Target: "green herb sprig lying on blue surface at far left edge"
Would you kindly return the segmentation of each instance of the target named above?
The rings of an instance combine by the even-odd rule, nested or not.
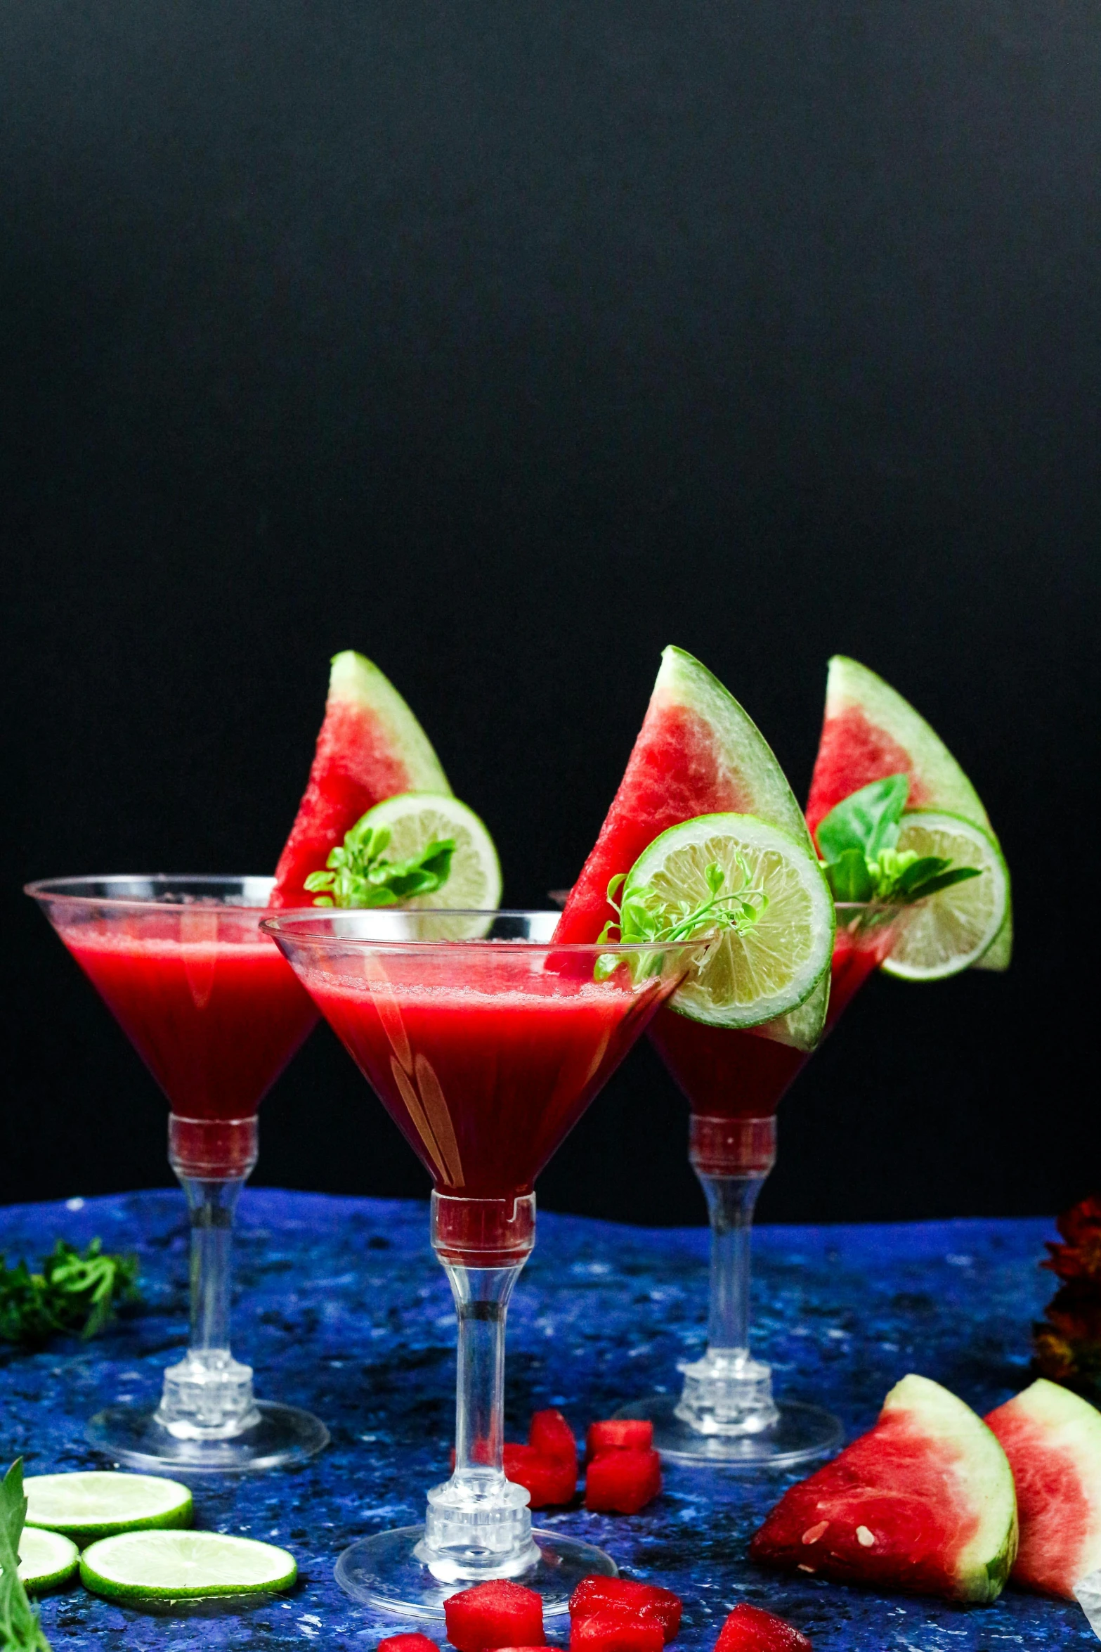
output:
[[[137,1297],[137,1257],[109,1256],[102,1239],[87,1251],[58,1239],[40,1274],[0,1256],[0,1338],[36,1348],[59,1332],[96,1336],[120,1302]]]

